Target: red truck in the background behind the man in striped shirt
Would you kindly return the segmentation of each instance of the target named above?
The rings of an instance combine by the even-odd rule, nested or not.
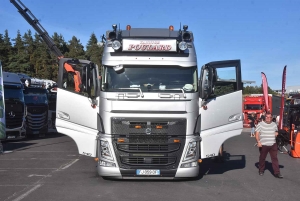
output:
[[[276,117],[280,113],[280,96],[275,96],[272,94],[268,94],[269,98],[269,107],[270,112],[273,115],[273,118]],[[261,114],[265,111],[265,101],[263,94],[251,94],[248,96],[244,96],[243,101],[243,114],[244,114],[244,128],[250,128],[249,117],[252,113],[255,114],[257,121],[260,119]],[[256,122],[257,123],[257,122]]]

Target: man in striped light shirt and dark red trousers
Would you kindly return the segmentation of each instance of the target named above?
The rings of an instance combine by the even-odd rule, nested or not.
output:
[[[275,138],[278,135],[278,128],[276,123],[272,121],[272,114],[267,113],[265,121],[260,122],[255,130],[255,138],[257,146],[259,147],[259,175],[263,176],[265,171],[265,160],[267,154],[270,153],[272,160],[272,167],[276,178],[283,178],[280,174],[278,158],[277,158],[277,144]]]

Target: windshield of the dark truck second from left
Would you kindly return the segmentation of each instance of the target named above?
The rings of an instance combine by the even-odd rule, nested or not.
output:
[[[26,104],[48,104],[47,91],[42,88],[26,88],[24,90]]]

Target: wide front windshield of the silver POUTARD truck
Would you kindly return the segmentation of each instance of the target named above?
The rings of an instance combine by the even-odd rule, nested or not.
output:
[[[168,89],[183,89],[185,93],[198,91],[196,66],[124,65],[119,71],[105,66],[103,72],[102,86],[105,86],[105,91],[123,91],[130,88],[140,88],[144,92]]]

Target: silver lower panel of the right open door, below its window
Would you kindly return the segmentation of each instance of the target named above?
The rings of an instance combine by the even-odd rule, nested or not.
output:
[[[200,109],[201,158],[217,156],[221,145],[243,129],[242,91],[217,97],[206,106]]]

